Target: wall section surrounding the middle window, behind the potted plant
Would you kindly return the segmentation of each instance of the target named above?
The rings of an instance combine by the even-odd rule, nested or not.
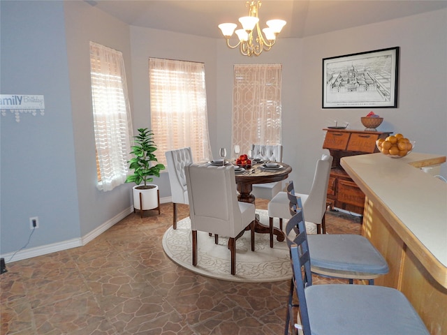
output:
[[[210,142],[212,147],[216,146],[216,135],[219,133],[217,124],[219,123],[216,110],[218,94],[216,90],[217,62],[214,43],[215,40],[212,38],[131,27],[133,128],[150,128],[149,57],[198,61],[205,64]],[[157,156],[164,156],[164,154],[162,151],[156,151]],[[159,185],[161,198],[170,197],[167,170],[161,172],[160,178],[154,179],[154,184]]]

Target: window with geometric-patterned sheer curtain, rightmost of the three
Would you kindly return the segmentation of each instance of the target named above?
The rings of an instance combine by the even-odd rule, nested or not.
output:
[[[232,147],[281,144],[280,64],[234,66]]]

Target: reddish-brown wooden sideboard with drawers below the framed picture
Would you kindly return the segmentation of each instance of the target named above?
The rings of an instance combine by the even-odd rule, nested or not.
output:
[[[331,207],[363,214],[365,194],[344,171],[340,159],[378,152],[376,140],[386,138],[390,133],[329,128],[323,131],[326,131],[323,149],[329,149],[330,155],[334,158],[328,186],[328,200],[332,202]]]

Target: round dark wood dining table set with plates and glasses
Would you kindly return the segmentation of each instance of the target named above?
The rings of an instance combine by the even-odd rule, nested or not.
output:
[[[288,174],[292,172],[291,166],[282,162],[277,164],[277,168],[268,169],[263,162],[260,162],[251,165],[250,168],[246,168],[243,172],[235,173],[236,187],[239,192],[238,200],[254,203],[255,196],[251,193],[254,184],[272,183],[286,179]],[[255,220],[255,232],[270,234],[270,228],[268,225],[263,225],[259,222],[258,216],[256,216]],[[284,241],[284,232],[278,228],[273,228],[273,234],[277,236],[277,241]]]

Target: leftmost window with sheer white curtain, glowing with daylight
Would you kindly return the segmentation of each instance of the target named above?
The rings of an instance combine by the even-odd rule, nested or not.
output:
[[[122,52],[90,42],[91,98],[98,189],[124,184],[131,152],[131,110]]]

